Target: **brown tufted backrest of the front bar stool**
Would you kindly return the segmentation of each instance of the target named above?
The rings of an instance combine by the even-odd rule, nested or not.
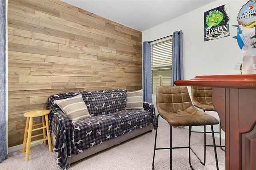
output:
[[[192,106],[187,87],[184,86],[157,86],[156,106],[164,111],[173,113],[184,111]]]

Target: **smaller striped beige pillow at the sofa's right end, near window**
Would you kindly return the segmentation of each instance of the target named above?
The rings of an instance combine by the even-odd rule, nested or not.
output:
[[[125,109],[144,110],[142,103],[143,89],[138,91],[126,92],[126,107]]]

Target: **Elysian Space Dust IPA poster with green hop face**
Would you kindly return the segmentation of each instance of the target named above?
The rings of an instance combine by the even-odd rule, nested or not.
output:
[[[204,41],[230,36],[229,4],[204,12]]]

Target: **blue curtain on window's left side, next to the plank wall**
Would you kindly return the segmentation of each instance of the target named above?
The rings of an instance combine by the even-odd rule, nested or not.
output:
[[[150,43],[143,42],[143,101],[152,103]]]

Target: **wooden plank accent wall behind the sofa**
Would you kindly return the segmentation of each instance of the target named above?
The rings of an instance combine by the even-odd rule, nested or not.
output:
[[[67,91],[142,88],[142,33],[60,0],[8,0],[8,137]],[[40,119],[36,119],[40,121]]]

